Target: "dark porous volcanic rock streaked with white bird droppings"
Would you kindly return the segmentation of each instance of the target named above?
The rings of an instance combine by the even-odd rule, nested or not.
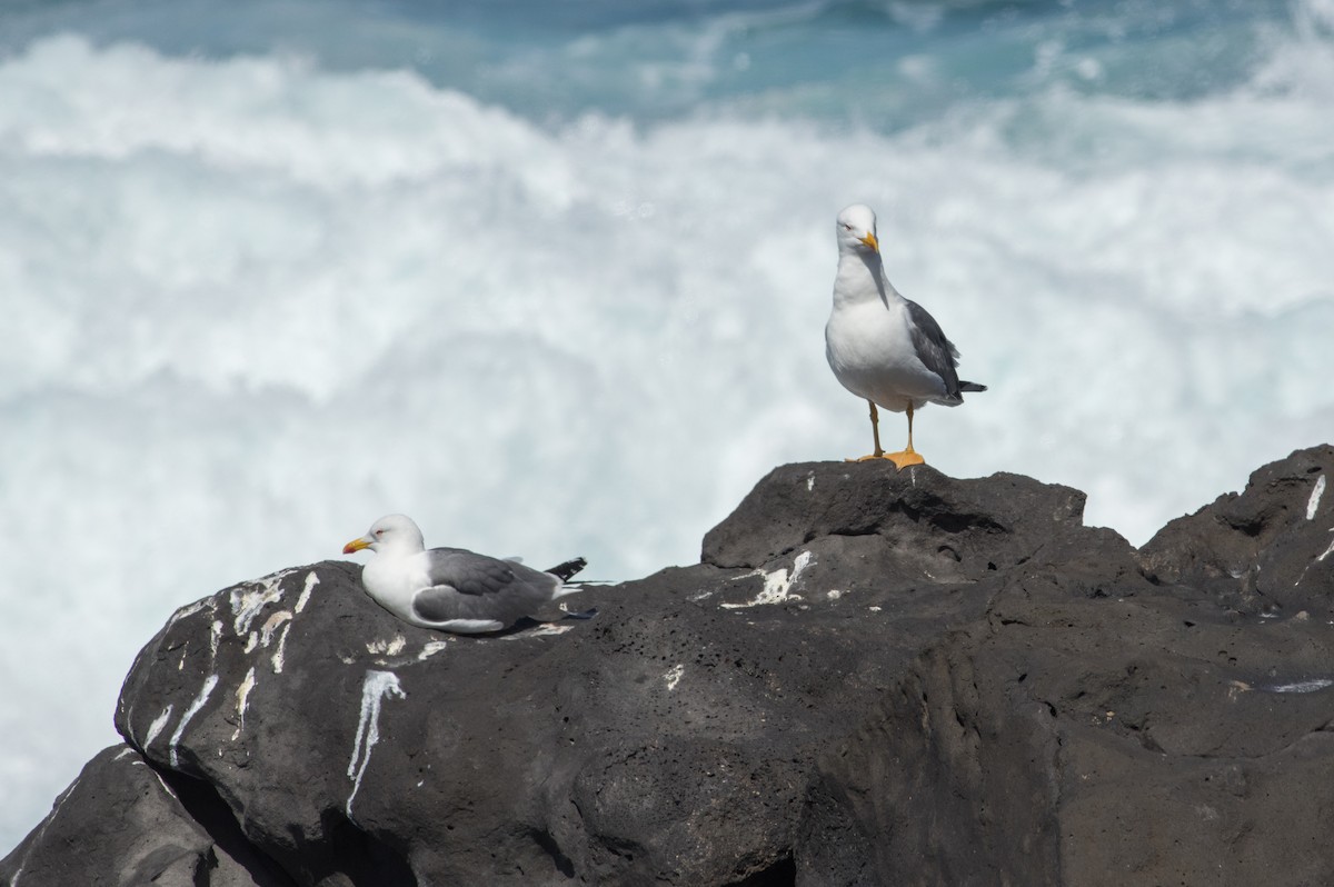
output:
[[[1330,475],[1137,551],[1030,478],[784,466],[702,563],[498,636],[346,562],[244,583],[144,647],[0,879],[1334,883]]]

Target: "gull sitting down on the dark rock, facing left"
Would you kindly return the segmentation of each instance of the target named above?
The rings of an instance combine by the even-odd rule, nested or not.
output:
[[[579,591],[566,580],[584,567],[583,558],[539,571],[464,548],[427,550],[407,515],[380,518],[370,532],[347,543],[343,554],[363,548],[375,552],[362,571],[362,584],[375,603],[403,622],[460,635],[499,631]]]

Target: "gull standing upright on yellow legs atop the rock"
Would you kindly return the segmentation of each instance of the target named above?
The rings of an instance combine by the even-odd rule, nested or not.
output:
[[[888,459],[902,471],[924,460],[912,450],[912,411],[928,403],[958,407],[964,391],[986,391],[959,381],[958,349],[940,324],[915,301],[904,299],[884,279],[875,213],[854,204],[838,213],[838,275],[834,309],[824,325],[824,356],[843,387],[871,405],[875,452],[855,462]],[[879,404],[908,413],[908,446],[880,450]]]

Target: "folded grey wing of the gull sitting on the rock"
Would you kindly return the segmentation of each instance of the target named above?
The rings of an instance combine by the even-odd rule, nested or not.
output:
[[[412,610],[427,622],[491,619],[510,624],[551,600],[560,587],[555,576],[463,548],[426,554],[431,587],[414,596]]]

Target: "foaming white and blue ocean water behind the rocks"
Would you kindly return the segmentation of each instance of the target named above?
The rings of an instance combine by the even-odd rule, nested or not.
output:
[[[991,385],[918,448],[1145,542],[1331,437],[1331,0],[9,0],[0,851],[176,606],[388,511],[636,578],[864,452],[852,201]]]

